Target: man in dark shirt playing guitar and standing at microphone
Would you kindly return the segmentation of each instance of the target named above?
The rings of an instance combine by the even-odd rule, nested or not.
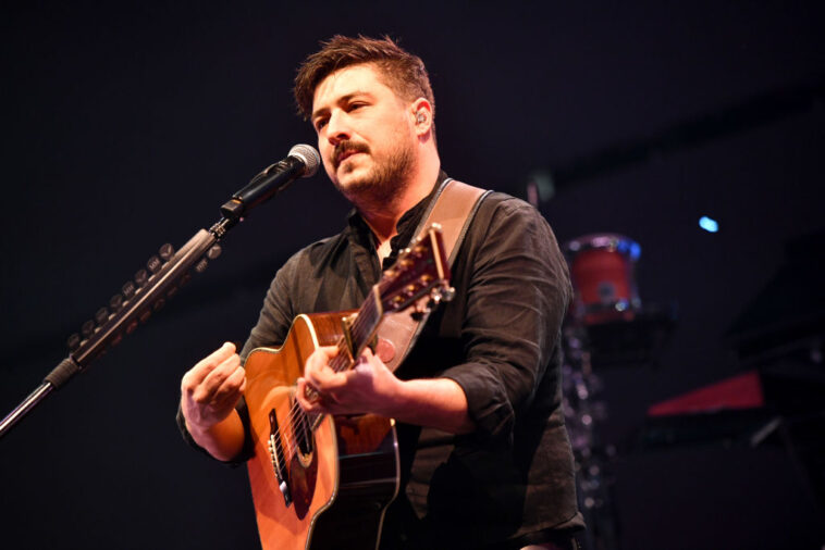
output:
[[[300,313],[358,307],[446,179],[427,71],[389,38],[333,37],[301,65],[295,97],[355,211],[344,232],[279,271],[243,357],[280,345]],[[328,364],[335,348],[321,348],[297,399],[311,412],[396,420],[403,485],[382,548],[572,548],[583,523],[558,349],[570,285],[546,222],[520,200],[488,196],[452,284],[456,298],[430,316],[396,372],[368,350],[336,373]],[[250,442],[234,351],[224,345],[184,375],[178,421],[192,442],[237,463]]]

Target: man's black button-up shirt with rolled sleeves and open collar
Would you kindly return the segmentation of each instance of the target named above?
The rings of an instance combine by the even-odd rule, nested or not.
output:
[[[402,217],[383,266],[357,212],[341,234],[292,257],[242,357],[280,345],[298,314],[358,308],[414,237],[432,196]],[[455,298],[430,315],[396,375],[458,383],[477,432],[397,424],[403,485],[382,548],[520,548],[544,540],[542,533],[581,528],[561,393],[561,325],[571,289],[553,232],[528,203],[491,193],[452,275]]]

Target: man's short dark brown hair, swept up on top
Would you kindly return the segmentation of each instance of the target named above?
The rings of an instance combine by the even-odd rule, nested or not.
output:
[[[412,101],[423,97],[432,104],[435,117],[435,99],[430,87],[423,61],[402,49],[392,38],[358,38],[335,35],[321,42],[321,49],[309,55],[298,67],[295,77],[295,101],[304,118],[312,114],[312,98],[316,87],[340,68],[361,63],[371,63],[383,76],[383,84],[395,93]]]

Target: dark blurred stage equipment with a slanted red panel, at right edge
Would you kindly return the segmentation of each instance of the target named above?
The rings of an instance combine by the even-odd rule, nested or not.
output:
[[[629,447],[780,447],[825,524],[825,232],[785,260],[725,334],[742,373],[651,405]]]

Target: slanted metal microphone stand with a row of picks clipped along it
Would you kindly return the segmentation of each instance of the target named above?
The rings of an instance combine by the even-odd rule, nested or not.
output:
[[[49,393],[63,387],[75,374],[102,355],[107,349],[120,343],[125,335],[132,334],[137,328],[138,324],[146,323],[153,311],[160,310],[167,300],[177,293],[180,288],[192,278],[193,267],[198,273],[204,272],[208,260],[214,260],[221,253],[218,241],[243,220],[242,216],[248,210],[286,188],[294,177],[300,175],[306,177],[315,173],[315,171],[304,173],[300,166],[293,168],[288,179],[274,180],[273,177],[269,177],[267,179],[271,180],[261,183],[263,176],[271,176],[271,174],[279,176],[273,171],[279,167],[279,164],[273,164],[261,172],[244,190],[226,201],[221,207],[223,218],[209,230],[198,230],[177,252],[173,253],[171,245],[161,247],[160,258],[149,259],[148,272],[140,270],[135,275],[134,284],[126,283],[122,289],[123,293],[115,295],[110,300],[109,308],[101,308],[97,312],[95,322],[88,321],[83,325],[82,335],[70,337],[69,357],[63,359],[44,378],[42,384],[0,422],[0,438]],[[245,191],[248,195],[250,188],[255,190],[255,201],[244,201],[245,197],[242,195]],[[262,199],[261,196],[263,196]]]

